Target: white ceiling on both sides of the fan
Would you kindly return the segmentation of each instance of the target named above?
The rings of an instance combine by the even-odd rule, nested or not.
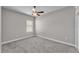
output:
[[[42,10],[45,13],[51,12],[51,11],[55,11],[61,8],[64,8],[67,6],[37,6],[38,10]],[[4,8],[8,8],[14,11],[18,11],[18,12],[22,12],[28,15],[32,15],[32,8],[33,6],[4,6]],[[44,14],[45,14],[44,13]]]

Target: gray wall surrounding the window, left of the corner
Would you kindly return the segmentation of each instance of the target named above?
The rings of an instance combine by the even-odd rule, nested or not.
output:
[[[33,35],[33,33],[26,33],[26,20],[34,20],[32,16],[5,8],[2,9],[2,16],[2,41]]]

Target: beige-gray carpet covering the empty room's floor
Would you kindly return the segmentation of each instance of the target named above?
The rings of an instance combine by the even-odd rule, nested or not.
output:
[[[40,37],[32,37],[2,46],[3,53],[76,53],[76,48]]]

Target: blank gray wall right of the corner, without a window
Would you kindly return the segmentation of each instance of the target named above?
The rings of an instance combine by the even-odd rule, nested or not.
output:
[[[75,9],[66,7],[36,18],[37,34],[75,44]]]

